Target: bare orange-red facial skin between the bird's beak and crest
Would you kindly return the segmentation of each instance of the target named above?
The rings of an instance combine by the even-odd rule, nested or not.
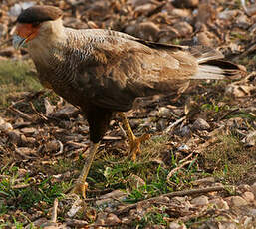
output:
[[[40,25],[34,26],[29,23],[18,23],[16,25],[16,34],[26,39],[26,42],[33,40],[38,32]]]

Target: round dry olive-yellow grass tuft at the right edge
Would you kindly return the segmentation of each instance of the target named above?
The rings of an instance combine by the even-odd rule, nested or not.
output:
[[[222,135],[203,157],[206,169],[210,168],[214,176],[223,182],[237,184],[250,180],[248,174],[253,174],[256,153],[244,147],[236,136]]]

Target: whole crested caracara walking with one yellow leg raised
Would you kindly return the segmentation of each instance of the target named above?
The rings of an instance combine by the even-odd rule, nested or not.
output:
[[[112,114],[121,113],[135,159],[140,141],[125,114],[138,97],[177,94],[191,79],[232,78],[233,64],[212,49],[157,44],[128,34],[76,30],[63,26],[62,11],[33,6],[17,18],[13,45],[27,44],[40,82],[85,114],[90,126],[90,152],[73,189],[85,197],[86,178]]]

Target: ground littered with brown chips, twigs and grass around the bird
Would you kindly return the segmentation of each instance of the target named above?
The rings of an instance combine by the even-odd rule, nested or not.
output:
[[[6,94],[0,85],[0,228],[256,228],[256,3],[0,0],[1,62],[31,62],[10,39],[22,8],[46,3],[64,10],[66,26],[210,46],[248,73],[192,83],[176,98],[141,99],[128,119],[152,138],[137,163],[114,118],[86,200],[55,194],[78,176],[89,146],[79,109],[49,91]],[[36,76],[33,66],[29,74]]]

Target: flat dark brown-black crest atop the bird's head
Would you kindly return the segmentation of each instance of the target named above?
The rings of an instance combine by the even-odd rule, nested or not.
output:
[[[32,6],[22,11],[17,22],[19,23],[41,23],[53,21],[62,16],[62,10],[54,6]]]

